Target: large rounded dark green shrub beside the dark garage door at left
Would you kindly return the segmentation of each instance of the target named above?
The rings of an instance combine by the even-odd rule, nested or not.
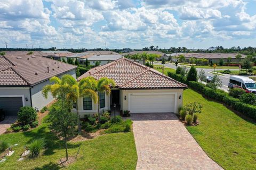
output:
[[[36,111],[32,107],[24,106],[21,107],[19,112],[18,112],[18,121],[23,124],[30,124],[34,121],[36,121],[37,115]]]

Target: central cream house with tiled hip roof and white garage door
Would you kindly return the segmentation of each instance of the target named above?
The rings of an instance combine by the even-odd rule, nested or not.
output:
[[[131,113],[178,113],[178,108],[182,106],[183,89],[187,88],[186,84],[127,58],[94,67],[81,75],[78,81],[89,76],[97,80],[107,77],[116,83],[110,95],[100,94],[101,112],[110,110],[115,103],[117,108]],[[81,116],[97,113],[97,109],[98,104],[94,104],[90,97],[78,99]]]

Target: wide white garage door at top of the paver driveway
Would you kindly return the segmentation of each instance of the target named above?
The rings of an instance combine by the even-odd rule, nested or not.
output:
[[[166,113],[174,112],[175,95],[173,94],[131,94],[131,113]]]

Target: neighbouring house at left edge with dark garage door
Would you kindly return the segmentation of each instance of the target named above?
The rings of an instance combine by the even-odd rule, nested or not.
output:
[[[14,53],[13,53],[14,54]],[[76,78],[74,65],[36,55],[0,56],[0,108],[6,115],[17,115],[22,106],[41,109],[53,97],[45,99],[42,88],[53,76],[70,74]]]

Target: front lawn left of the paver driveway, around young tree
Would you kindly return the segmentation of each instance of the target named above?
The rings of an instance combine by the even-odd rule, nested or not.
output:
[[[17,162],[23,146],[33,139],[42,137],[47,142],[44,155]],[[19,143],[17,147],[13,147],[14,154],[7,157],[6,162],[0,163],[0,169],[59,169],[57,162],[59,158],[65,157],[63,142],[50,132],[46,123],[33,131],[2,134],[0,140],[7,141],[11,145]],[[83,142],[69,142],[69,156],[76,155],[79,145],[81,150],[76,162],[65,169],[135,169],[136,167],[137,152],[132,132],[101,135]]]

